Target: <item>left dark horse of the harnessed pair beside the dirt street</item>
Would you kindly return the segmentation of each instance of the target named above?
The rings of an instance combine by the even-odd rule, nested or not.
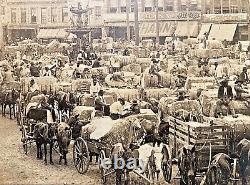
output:
[[[42,145],[44,146],[44,162],[47,164],[47,144],[50,145],[50,164],[53,163],[53,146],[55,138],[56,126],[39,122],[34,126],[34,139],[37,147],[37,159],[43,159]]]

